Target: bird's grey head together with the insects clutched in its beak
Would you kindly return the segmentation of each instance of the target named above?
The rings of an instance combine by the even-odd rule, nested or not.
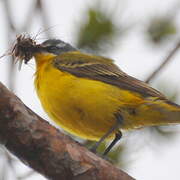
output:
[[[35,57],[37,62],[41,62],[68,51],[77,51],[77,49],[59,39],[49,39],[41,44],[37,44],[30,37],[20,35],[17,37],[12,54],[18,59],[20,64],[23,61],[27,64],[32,57]]]

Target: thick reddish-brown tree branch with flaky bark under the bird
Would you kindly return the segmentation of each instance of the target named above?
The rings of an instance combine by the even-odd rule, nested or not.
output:
[[[49,179],[133,180],[59,132],[1,83],[0,143]]]

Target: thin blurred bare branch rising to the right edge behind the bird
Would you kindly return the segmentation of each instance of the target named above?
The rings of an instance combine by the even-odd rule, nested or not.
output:
[[[145,80],[146,83],[149,83],[154,79],[157,74],[169,63],[172,57],[177,53],[180,48],[180,41],[175,45],[175,47],[170,51],[164,61],[149,75],[149,77]]]

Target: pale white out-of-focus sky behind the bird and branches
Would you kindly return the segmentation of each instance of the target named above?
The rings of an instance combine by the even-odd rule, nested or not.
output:
[[[51,20],[51,32],[55,34],[56,38],[60,38],[66,42],[73,44],[75,42],[74,36],[76,35],[75,29],[79,22],[79,18],[82,18],[83,12],[86,10],[87,6],[94,4],[94,0],[44,0],[46,4],[46,10],[49,12],[49,19]],[[22,3],[23,2],[23,3]],[[26,3],[24,3],[26,2]],[[14,12],[14,20],[17,24],[23,23],[26,17],[25,14],[29,9],[32,0],[11,0],[12,11]],[[152,70],[161,63],[161,60],[168,51],[173,47],[169,44],[166,47],[157,48],[149,47],[146,43],[145,37],[141,36],[143,33],[143,23],[146,24],[147,20],[154,15],[168,13],[177,0],[101,0],[107,11],[114,8],[115,3],[121,6],[125,6],[125,11],[123,15],[123,22],[128,23],[136,22],[142,23],[141,26],[137,26],[131,31],[128,38],[120,39],[117,43],[115,50],[112,50],[112,54],[108,56],[116,60],[116,63],[120,68],[126,73],[139,78],[141,80],[145,79]],[[173,3],[174,2],[174,3]],[[117,10],[115,13],[116,21],[119,21],[119,13],[121,11]],[[119,8],[120,9],[120,8]],[[9,48],[7,42],[5,42],[6,29],[4,29],[3,19],[3,8],[0,2],[0,54],[3,54],[5,50]],[[32,14],[33,16],[33,14]],[[53,20],[53,21],[52,21]],[[177,17],[177,22],[180,17]],[[29,30],[32,34],[36,34],[38,30],[42,27],[39,23],[39,18],[34,20],[33,27]],[[15,38],[15,37],[14,37]],[[103,54],[102,54],[103,55]],[[7,85],[7,59],[3,58],[0,61],[0,81]],[[32,64],[32,63],[31,63]],[[32,65],[31,65],[32,66]],[[33,67],[33,66],[32,66]],[[33,73],[35,66],[33,68],[29,66],[23,66],[21,71],[17,72],[16,90],[15,93],[21,100],[36,113],[42,117],[49,119],[41,108],[39,100],[36,96],[35,89],[33,86]],[[172,88],[179,88],[180,86],[180,52],[177,53],[176,57],[172,62],[163,70],[163,72],[158,76],[158,80],[170,81]],[[179,91],[180,93],[180,91]],[[180,128],[179,128],[180,132]],[[146,134],[142,133],[142,136]],[[168,144],[156,145],[155,148],[151,147],[151,138],[147,137],[147,146],[143,147],[141,151],[134,149],[133,144],[138,141],[136,138],[139,136],[131,137],[125,135],[125,140],[131,142],[132,152],[130,155],[133,156],[129,169],[125,171],[132,177],[138,180],[179,180],[180,179],[180,134],[173,139],[172,142]],[[133,154],[132,154],[133,153]],[[21,171],[23,166],[18,166]],[[30,179],[41,180],[44,179],[39,176],[32,176]]]

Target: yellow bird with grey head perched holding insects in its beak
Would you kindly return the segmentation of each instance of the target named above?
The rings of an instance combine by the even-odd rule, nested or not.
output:
[[[65,131],[96,141],[93,152],[112,140],[103,153],[107,155],[122,131],[180,124],[178,104],[123,72],[112,59],[81,52],[59,39],[27,42],[20,38],[13,51],[25,63],[35,58],[34,85],[42,107]]]

